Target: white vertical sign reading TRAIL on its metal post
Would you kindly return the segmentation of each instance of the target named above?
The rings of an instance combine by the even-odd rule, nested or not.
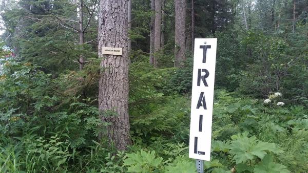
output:
[[[210,159],[217,38],[196,38],[192,72],[189,158],[197,159],[198,172],[203,160]]]

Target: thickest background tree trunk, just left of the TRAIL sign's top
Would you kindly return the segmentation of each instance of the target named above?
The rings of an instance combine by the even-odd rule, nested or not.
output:
[[[175,35],[175,67],[182,67],[185,61],[185,0],[175,0],[176,35]]]

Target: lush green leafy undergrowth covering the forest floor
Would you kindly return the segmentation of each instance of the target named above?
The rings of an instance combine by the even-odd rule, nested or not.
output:
[[[189,87],[176,82],[188,72],[131,64],[133,144],[119,152],[98,140],[108,124],[99,118],[97,100],[82,95],[97,84],[96,70],[55,78],[31,63],[6,62],[0,78],[0,172],[196,171],[187,155]],[[81,88],[66,84],[78,82],[78,75],[93,82]],[[165,87],[175,84],[179,88]],[[265,104],[223,89],[215,91],[214,102],[205,172],[308,171],[305,107]]]

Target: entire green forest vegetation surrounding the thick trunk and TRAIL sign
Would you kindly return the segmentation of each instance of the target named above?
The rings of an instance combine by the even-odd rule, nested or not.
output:
[[[99,138],[108,125],[98,109],[100,2],[2,1],[0,172],[194,172],[192,40],[211,37],[218,49],[205,172],[308,171],[308,1],[188,0],[182,46],[175,2],[159,2],[154,50],[158,11],[131,1],[132,145],[122,152]]]

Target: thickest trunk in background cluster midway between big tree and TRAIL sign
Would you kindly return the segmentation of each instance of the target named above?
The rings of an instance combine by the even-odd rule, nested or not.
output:
[[[162,4],[161,0],[155,0],[155,27],[154,27],[154,51],[161,49],[161,28],[162,28]],[[157,56],[154,56],[154,67],[157,67]]]

